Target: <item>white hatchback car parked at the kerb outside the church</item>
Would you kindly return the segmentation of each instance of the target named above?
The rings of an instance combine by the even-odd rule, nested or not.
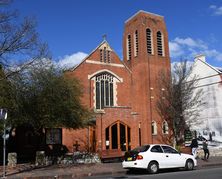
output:
[[[149,173],[157,173],[166,168],[193,170],[197,161],[194,156],[179,153],[169,145],[150,144],[126,152],[122,166],[124,169],[147,169]]]

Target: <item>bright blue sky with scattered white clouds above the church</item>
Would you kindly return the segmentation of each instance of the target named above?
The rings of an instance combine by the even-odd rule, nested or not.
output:
[[[74,66],[107,35],[122,59],[124,22],[139,10],[164,16],[171,61],[198,54],[222,67],[222,0],[14,0],[12,9],[34,16],[53,60]]]

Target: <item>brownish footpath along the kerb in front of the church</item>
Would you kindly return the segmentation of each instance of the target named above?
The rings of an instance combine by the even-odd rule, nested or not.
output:
[[[222,156],[212,156],[208,161],[198,159],[197,169],[222,166]],[[15,168],[7,168],[9,179],[68,179],[87,176],[118,175],[127,170],[122,169],[121,163],[72,164],[36,167],[30,164],[20,164]],[[2,166],[0,166],[2,173]]]

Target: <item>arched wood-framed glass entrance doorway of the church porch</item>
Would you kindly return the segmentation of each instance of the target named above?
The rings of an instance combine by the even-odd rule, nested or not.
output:
[[[117,121],[106,128],[106,149],[131,149],[131,129],[126,124]]]

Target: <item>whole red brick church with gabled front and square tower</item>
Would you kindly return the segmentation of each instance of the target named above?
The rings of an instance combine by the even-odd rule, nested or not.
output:
[[[104,40],[66,72],[81,81],[82,102],[96,116],[93,127],[62,129],[62,144],[70,151],[74,146],[90,151],[127,151],[169,139],[168,124],[158,115],[155,104],[157,93],[164,90],[158,74],[170,70],[164,17],[137,12],[125,21],[122,42],[122,60]]]

